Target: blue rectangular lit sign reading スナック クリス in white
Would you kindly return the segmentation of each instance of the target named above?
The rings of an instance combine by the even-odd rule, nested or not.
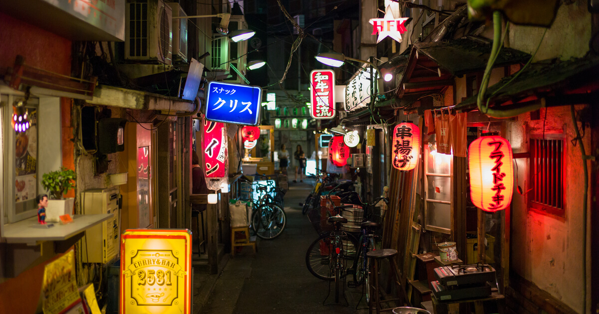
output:
[[[262,89],[258,86],[211,81],[206,96],[206,120],[257,126]]]

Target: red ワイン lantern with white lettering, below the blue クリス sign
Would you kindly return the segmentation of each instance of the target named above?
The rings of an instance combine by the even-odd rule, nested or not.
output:
[[[206,178],[225,178],[229,175],[225,124],[204,120],[204,161]]]

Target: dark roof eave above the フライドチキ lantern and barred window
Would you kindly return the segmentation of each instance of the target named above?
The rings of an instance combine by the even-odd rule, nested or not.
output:
[[[512,105],[539,101],[544,98],[546,106],[588,103],[597,97],[599,90],[599,57],[585,57],[568,61],[531,63],[515,80],[514,75],[504,77],[490,86],[486,94],[494,94],[491,104]],[[506,85],[506,83],[509,84]],[[455,109],[468,111],[477,108],[477,96],[458,103]]]

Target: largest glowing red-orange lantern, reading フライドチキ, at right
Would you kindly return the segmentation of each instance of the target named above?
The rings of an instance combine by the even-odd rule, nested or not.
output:
[[[506,209],[512,202],[512,146],[501,136],[482,136],[468,148],[470,199],[483,211]]]

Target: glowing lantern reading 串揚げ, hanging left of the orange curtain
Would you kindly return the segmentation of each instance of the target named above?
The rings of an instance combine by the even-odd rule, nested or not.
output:
[[[393,166],[399,170],[412,170],[420,156],[420,129],[413,123],[400,123],[393,130]]]

